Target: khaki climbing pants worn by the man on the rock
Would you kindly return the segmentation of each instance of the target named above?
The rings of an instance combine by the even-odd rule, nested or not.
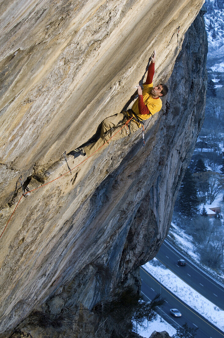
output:
[[[86,152],[87,156],[92,155],[100,147],[102,147],[100,150],[103,150],[105,147],[107,147],[110,144],[110,142],[120,140],[123,137],[130,135],[130,133],[138,130],[139,128],[138,124],[132,120],[128,123],[128,126],[127,125],[124,126],[125,123],[128,121],[128,119],[130,119],[130,117],[128,117],[126,113],[124,114],[120,113],[120,114],[115,114],[113,116],[109,116],[106,119],[104,119],[102,122],[102,128],[101,128],[99,140],[92,144],[89,144],[86,147],[83,147],[83,150]],[[122,126],[124,127],[121,129]],[[113,138],[110,140],[111,137]],[[104,144],[106,141],[108,142]]]

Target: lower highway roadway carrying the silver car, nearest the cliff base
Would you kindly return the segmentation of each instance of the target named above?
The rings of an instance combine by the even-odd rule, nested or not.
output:
[[[142,267],[140,267],[140,275],[142,280],[141,293],[146,300],[152,300],[157,293],[160,293],[159,282]],[[196,333],[197,338],[224,338],[224,333],[221,330],[191,309],[163,285],[161,285],[161,293],[162,297],[166,299],[165,306],[162,308],[162,318],[174,328],[177,329],[179,325],[183,325],[187,322],[192,328],[198,327]],[[177,308],[182,313],[182,317],[173,317],[169,313],[169,309],[171,308]]]

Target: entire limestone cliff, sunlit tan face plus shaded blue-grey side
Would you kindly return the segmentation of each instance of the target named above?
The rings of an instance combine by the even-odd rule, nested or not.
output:
[[[0,337],[46,299],[48,309],[59,299],[57,311],[79,302],[92,309],[112,287],[98,292],[99,266],[110,269],[113,285],[139,289],[138,266],[155,256],[168,232],[203,121],[201,15],[186,33],[202,3],[1,5],[1,232],[21,196],[19,176],[31,190],[65,173],[66,164],[56,161],[122,110],[154,48],[155,82],[168,80],[180,52],[179,25],[182,50],[163,109],[146,123],[144,148],[136,132],[22,198],[0,239]]]

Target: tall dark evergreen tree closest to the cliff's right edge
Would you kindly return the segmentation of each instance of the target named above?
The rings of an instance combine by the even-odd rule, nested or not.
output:
[[[195,180],[190,169],[187,168],[180,188],[180,212],[188,217],[192,217],[198,212],[198,204]]]

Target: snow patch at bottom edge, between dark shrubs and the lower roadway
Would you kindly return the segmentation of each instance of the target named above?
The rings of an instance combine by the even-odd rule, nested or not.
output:
[[[145,322],[145,326],[147,327],[146,330],[142,329],[142,328],[138,328],[138,334],[142,337],[146,337],[149,338],[151,336],[151,334],[154,331],[157,332],[162,332],[162,331],[166,331],[168,332],[168,334],[170,336],[174,335],[177,330],[174,329],[169,323],[167,323],[164,319],[162,319],[163,321],[160,322],[160,317],[158,316],[158,318],[152,322]]]

